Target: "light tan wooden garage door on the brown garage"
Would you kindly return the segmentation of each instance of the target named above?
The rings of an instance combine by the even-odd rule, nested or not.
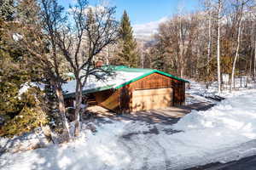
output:
[[[172,105],[172,88],[135,90],[132,93],[132,111],[166,108]]]

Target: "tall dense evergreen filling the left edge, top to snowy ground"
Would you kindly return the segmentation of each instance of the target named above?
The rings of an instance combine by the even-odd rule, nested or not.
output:
[[[16,5],[19,8],[20,3]],[[42,77],[35,65],[27,64],[26,59],[30,56],[18,44],[20,22],[12,22],[20,15],[17,8],[15,14],[8,12],[8,8],[0,8],[0,136],[30,132],[49,122],[44,93],[39,88],[29,88],[20,94],[20,88]]]

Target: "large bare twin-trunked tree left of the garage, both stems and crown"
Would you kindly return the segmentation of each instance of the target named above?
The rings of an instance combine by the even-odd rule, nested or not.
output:
[[[109,74],[108,69],[94,65],[94,57],[115,42],[118,22],[114,19],[115,8],[90,7],[86,0],[77,1],[69,14],[64,14],[64,8],[56,0],[41,0],[38,4],[40,14],[35,15],[34,23],[24,23],[20,44],[32,55],[31,64],[41,68],[55,89],[67,141],[71,136],[61,88],[65,82],[61,67],[67,63],[76,79],[75,135],[79,135],[83,87],[88,77],[100,79],[103,73]]]

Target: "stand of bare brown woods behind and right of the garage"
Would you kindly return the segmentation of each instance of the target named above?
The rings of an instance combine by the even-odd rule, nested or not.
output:
[[[253,77],[256,71],[255,4],[201,1],[201,8],[163,22],[143,51],[143,65],[208,83],[222,74]],[[234,81],[232,81],[234,82]]]

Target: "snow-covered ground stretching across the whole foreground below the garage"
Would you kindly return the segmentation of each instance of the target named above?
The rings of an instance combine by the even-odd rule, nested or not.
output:
[[[202,89],[195,82],[191,96],[195,88]],[[212,109],[192,111],[174,125],[106,119],[92,133],[84,124],[73,143],[3,154],[0,169],[184,169],[256,155],[256,89],[224,95]]]

